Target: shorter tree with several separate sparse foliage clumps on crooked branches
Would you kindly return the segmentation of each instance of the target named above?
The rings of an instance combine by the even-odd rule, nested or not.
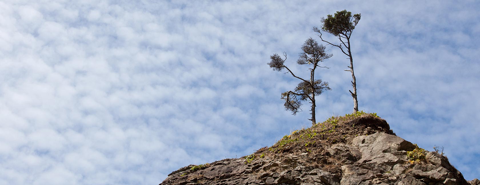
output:
[[[284,68],[288,70],[286,73],[290,73],[293,77],[296,77],[301,80],[297,87],[293,91],[287,91],[282,93],[281,98],[285,100],[285,110],[291,111],[293,115],[296,115],[297,112],[301,111],[301,101],[308,100],[312,106],[312,118],[308,119],[312,121],[312,125],[316,123],[315,121],[315,96],[318,96],[324,92],[324,90],[331,90],[328,87],[328,82],[324,82],[321,79],[315,79],[315,69],[317,67],[324,67],[320,66],[319,63],[323,62],[325,59],[332,57],[332,54],[325,53],[325,46],[322,44],[318,44],[312,38],[309,38],[305,41],[305,43],[301,46],[302,52],[299,54],[299,59],[297,60],[297,64],[299,65],[311,65],[309,68],[310,70],[310,78],[303,79],[299,76],[293,74],[293,72],[288,69],[287,66],[284,65],[285,61],[287,60],[287,53],[283,53],[285,59],[280,57],[278,54],[273,54],[270,56],[271,61],[267,63],[270,68],[273,68],[274,71],[282,71]]]

